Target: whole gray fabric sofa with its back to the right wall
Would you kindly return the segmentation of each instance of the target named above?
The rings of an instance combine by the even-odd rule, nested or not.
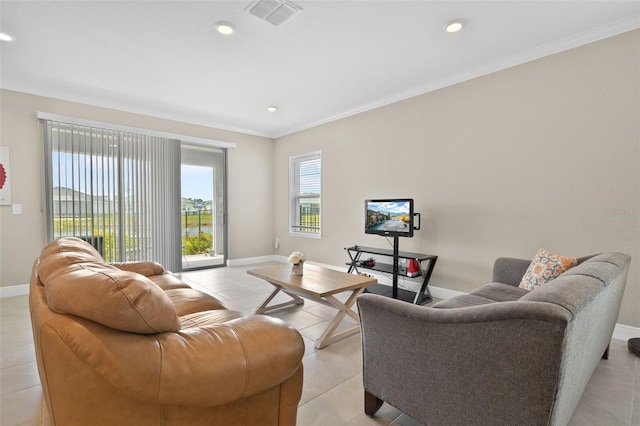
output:
[[[631,258],[604,253],[544,286],[530,260],[500,258],[493,282],[433,307],[364,294],[365,412],[387,402],[439,425],[566,425],[618,318]]]

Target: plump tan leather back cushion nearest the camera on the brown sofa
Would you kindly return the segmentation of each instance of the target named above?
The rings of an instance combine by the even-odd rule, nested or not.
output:
[[[38,268],[53,311],[132,333],[180,330],[171,300],[147,277],[105,263],[64,263],[57,270]]]

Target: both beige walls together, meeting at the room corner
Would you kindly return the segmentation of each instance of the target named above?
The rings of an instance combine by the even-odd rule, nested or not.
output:
[[[634,260],[619,322],[640,327],[640,31],[283,137],[220,129],[0,91],[13,203],[0,207],[0,286],[25,284],[44,244],[36,112],[234,142],[229,256],[301,250],[344,265],[363,233],[363,200],[412,197],[423,229],[401,249],[439,256],[432,285],[470,291],[498,256],[544,247]],[[290,237],[290,155],[322,150],[323,238]],[[275,203],[275,208],[274,208]],[[275,230],[273,224],[275,223]]]

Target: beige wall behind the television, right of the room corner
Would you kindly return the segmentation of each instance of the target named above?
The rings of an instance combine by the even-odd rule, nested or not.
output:
[[[439,256],[432,284],[470,291],[496,257],[538,248],[633,257],[619,322],[640,326],[640,31],[280,138],[279,254],[344,265],[363,200],[412,197],[402,250]],[[322,150],[323,237],[287,231],[290,155]]]

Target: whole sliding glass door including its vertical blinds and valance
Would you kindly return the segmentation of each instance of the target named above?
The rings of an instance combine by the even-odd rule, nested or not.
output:
[[[107,262],[173,272],[226,265],[227,148],[210,143],[233,144],[39,118],[49,241],[76,236]]]

